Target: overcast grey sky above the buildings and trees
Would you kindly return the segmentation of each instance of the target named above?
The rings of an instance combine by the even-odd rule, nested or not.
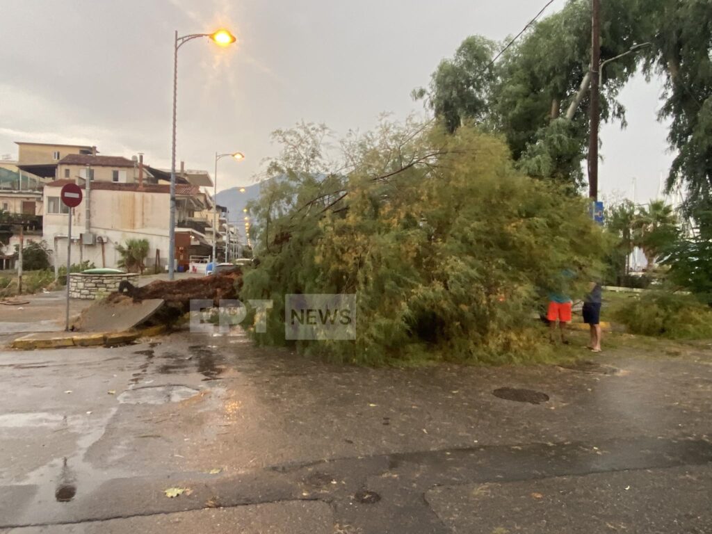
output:
[[[219,189],[251,183],[274,155],[269,134],[300,120],[367,130],[380,112],[422,112],[409,94],[474,33],[517,33],[543,0],[0,0],[0,155],[15,141],[97,145],[170,165],[173,32],[225,26],[237,46],[206,39],[179,52],[178,159]],[[563,0],[548,8],[551,14]],[[671,155],[656,122],[659,82],[622,94],[629,127],[604,125],[603,194],[654,197]]]

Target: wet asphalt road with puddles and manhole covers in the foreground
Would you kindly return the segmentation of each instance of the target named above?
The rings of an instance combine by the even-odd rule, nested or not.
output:
[[[188,333],[2,352],[0,531],[710,533],[711,364],[373,370]]]

